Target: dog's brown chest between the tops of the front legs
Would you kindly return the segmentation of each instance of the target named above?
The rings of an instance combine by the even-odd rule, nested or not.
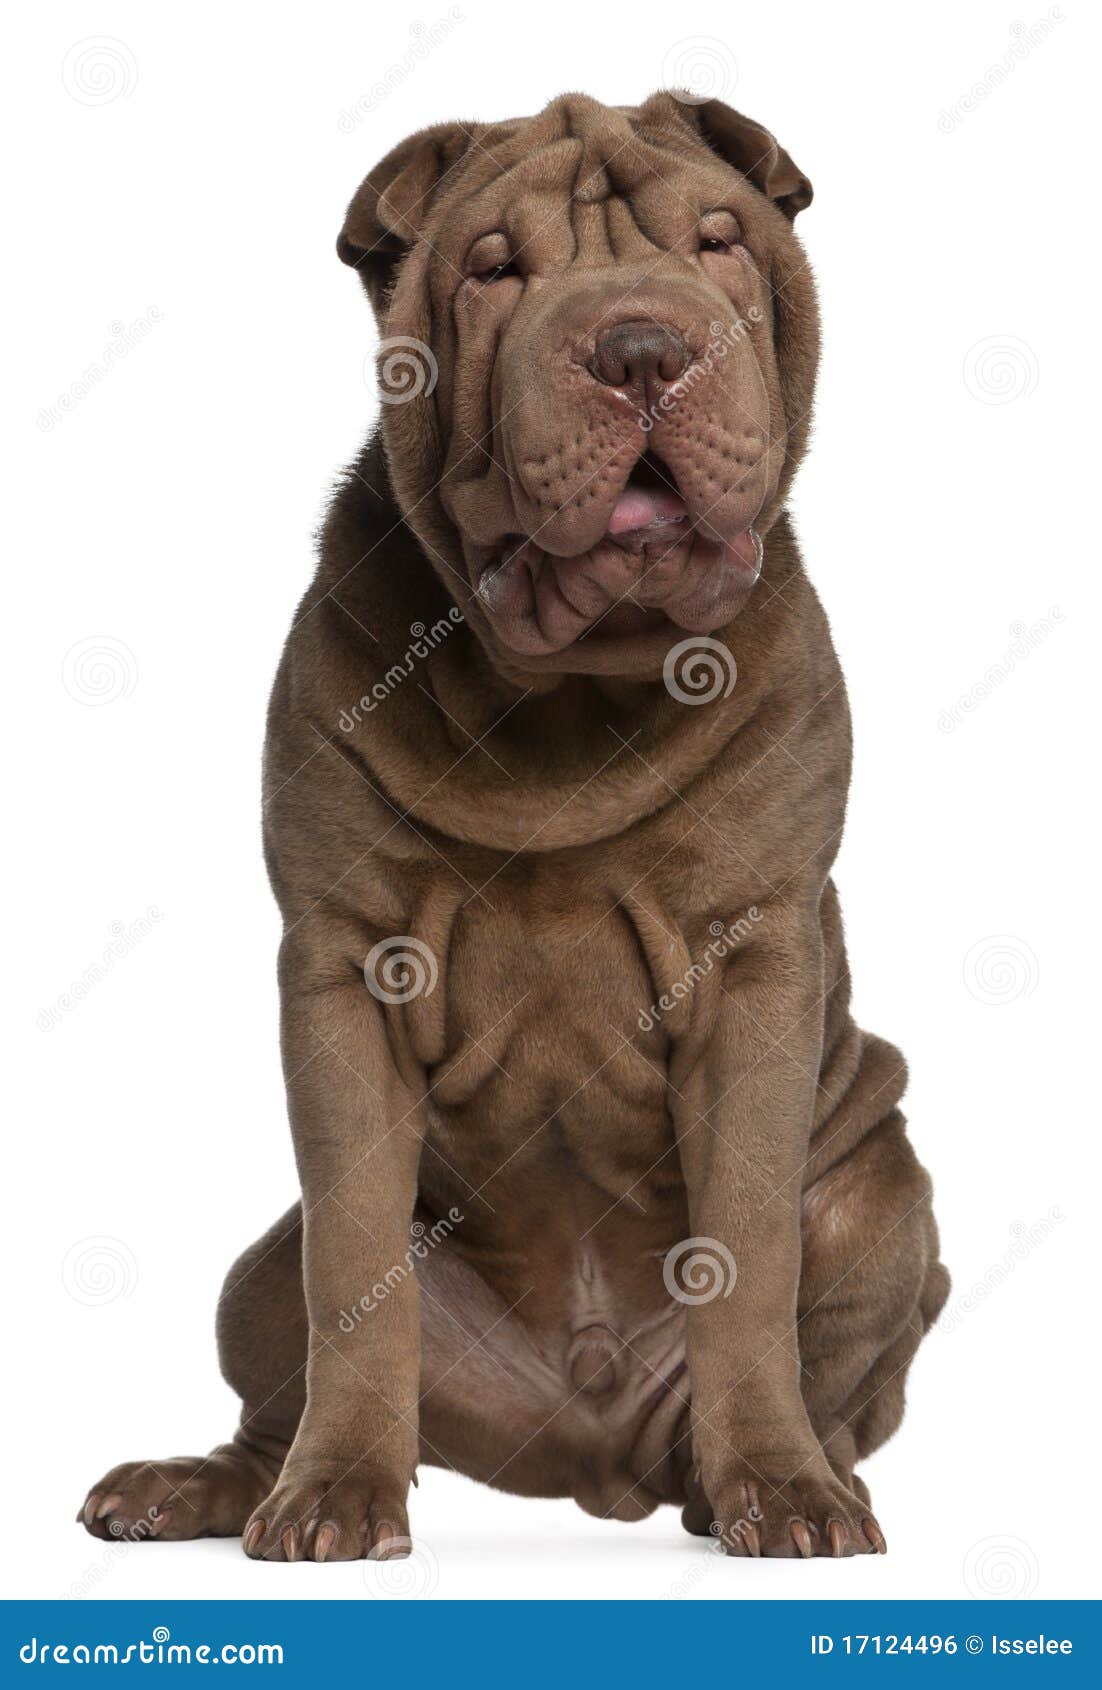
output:
[[[490,884],[451,930],[433,1141],[465,1178],[573,1164],[620,1195],[673,1142],[654,989],[614,897]]]

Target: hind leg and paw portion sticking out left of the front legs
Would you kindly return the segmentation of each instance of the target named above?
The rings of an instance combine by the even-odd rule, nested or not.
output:
[[[210,1455],[123,1462],[79,1519],[96,1538],[235,1538],[272,1489],[306,1401],[303,1217],[296,1205],[233,1264],[218,1303],[221,1371],[242,1423]]]

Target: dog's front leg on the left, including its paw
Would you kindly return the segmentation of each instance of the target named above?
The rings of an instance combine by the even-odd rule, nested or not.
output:
[[[333,958],[331,936],[325,951]],[[409,1225],[421,1098],[399,1077],[384,1006],[353,973],[355,940],[338,951],[338,963],[321,962],[301,930],[281,951],[309,1359],[297,1435],[245,1528],[245,1550],[257,1558],[409,1550],[419,1379]]]

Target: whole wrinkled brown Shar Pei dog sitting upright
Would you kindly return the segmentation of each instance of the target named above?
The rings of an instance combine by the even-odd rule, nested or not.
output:
[[[810,198],[718,101],[570,95],[352,201],[390,402],[265,766],[303,1203],[226,1281],[233,1443],[117,1467],[98,1536],[402,1553],[423,1460],[884,1546],[854,1464],[948,1279],[828,877]]]

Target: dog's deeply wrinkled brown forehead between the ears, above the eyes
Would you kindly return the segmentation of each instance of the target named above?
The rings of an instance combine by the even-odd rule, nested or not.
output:
[[[745,188],[676,117],[565,96],[539,117],[472,132],[424,233],[458,269],[495,230],[531,270],[617,264],[688,250],[700,216],[739,210]]]

